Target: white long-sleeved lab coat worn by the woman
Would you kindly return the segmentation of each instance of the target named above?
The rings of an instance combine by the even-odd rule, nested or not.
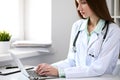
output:
[[[85,25],[87,20],[79,20],[73,24],[70,47],[67,59],[54,63],[65,72],[66,78],[92,77],[112,74],[120,52],[120,28],[115,23],[109,24],[107,36],[103,40],[105,30],[93,33],[88,44]],[[80,26],[81,25],[81,26]],[[73,52],[73,41],[80,30],[76,42],[77,52]],[[89,56],[93,54],[94,57]]]

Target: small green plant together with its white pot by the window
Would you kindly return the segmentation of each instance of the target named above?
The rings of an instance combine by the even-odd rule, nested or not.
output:
[[[0,31],[0,53],[8,53],[11,35],[7,31]]]

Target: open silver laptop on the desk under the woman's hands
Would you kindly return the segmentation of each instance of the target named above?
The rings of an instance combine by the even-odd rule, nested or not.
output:
[[[22,74],[29,78],[30,80],[45,80],[45,79],[53,79],[56,77],[53,76],[47,76],[47,77],[43,77],[38,75],[35,70],[31,69],[31,70],[26,70],[24,69],[23,64],[21,63],[20,59],[12,52],[10,52],[11,57],[13,58],[13,60],[16,62],[16,64],[18,65],[19,69],[21,70]]]

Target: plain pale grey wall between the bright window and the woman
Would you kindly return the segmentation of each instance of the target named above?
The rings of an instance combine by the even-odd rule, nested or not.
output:
[[[65,59],[68,54],[72,24],[78,20],[74,0],[52,0],[52,55],[29,58],[24,63],[53,63]]]

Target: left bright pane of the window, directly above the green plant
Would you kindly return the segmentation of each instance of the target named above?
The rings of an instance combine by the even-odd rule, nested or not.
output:
[[[0,30],[10,32],[14,38],[22,38],[19,14],[19,0],[0,0]]]

